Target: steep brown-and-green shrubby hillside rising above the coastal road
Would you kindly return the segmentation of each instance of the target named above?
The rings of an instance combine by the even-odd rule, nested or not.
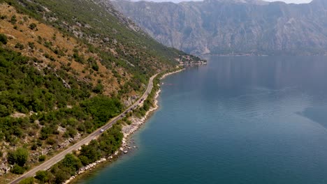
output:
[[[108,3],[0,0],[0,183],[117,116],[180,56]]]

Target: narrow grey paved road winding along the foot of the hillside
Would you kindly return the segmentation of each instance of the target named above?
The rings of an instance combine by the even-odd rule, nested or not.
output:
[[[78,141],[78,143],[67,148],[66,150],[62,151],[61,153],[55,155],[53,158],[46,160],[45,162],[38,165],[34,169],[31,169],[27,173],[22,174],[22,176],[16,178],[14,181],[11,181],[10,184],[19,183],[24,178],[35,176],[37,171],[41,171],[41,170],[45,171],[45,170],[50,169],[50,167],[52,167],[52,165],[57,164],[57,162],[64,159],[65,155],[67,155],[68,153],[72,153],[72,151],[74,151],[74,150],[78,150],[82,145],[88,144],[90,141],[92,141],[92,139],[96,139],[96,137],[98,137],[99,135],[102,134],[103,130],[106,131],[109,128],[111,128],[112,125],[115,124],[119,119],[123,118],[127,112],[130,112],[132,109],[134,109],[135,107],[140,105],[143,102],[143,100],[145,100],[147,98],[147,95],[150,94],[150,92],[152,91],[153,79],[155,77],[157,77],[157,75],[158,74],[150,77],[149,83],[147,84],[147,90],[145,91],[145,93],[143,93],[143,95],[140,97],[140,99],[138,99],[133,105],[131,105],[131,107],[126,109],[124,112],[122,112],[122,114],[119,114],[115,118],[112,118],[106,125],[103,125],[98,130],[95,130],[94,132],[92,132],[90,135],[88,135],[84,139]]]

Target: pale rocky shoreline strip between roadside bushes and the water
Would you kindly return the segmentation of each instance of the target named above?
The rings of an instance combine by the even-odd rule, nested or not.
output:
[[[168,75],[173,75],[177,72],[181,72],[182,70],[184,70],[184,68],[180,69],[180,70],[176,70],[174,72],[169,72],[166,73],[164,75],[162,75],[160,77],[160,79],[163,79],[165,77],[167,77]],[[84,174],[87,171],[92,171],[92,169],[94,169],[97,165],[103,163],[103,162],[112,162],[112,160],[114,158],[117,158],[119,156],[119,154],[121,153],[127,153],[129,149],[131,149],[131,146],[129,146],[127,144],[129,136],[133,134],[133,132],[136,132],[136,130],[138,130],[140,128],[141,125],[143,125],[146,121],[147,118],[149,118],[149,116],[152,114],[152,112],[154,112],[155,110],[157,110],[159,108],[158,105],[158,97],[160,94],[161,90],[159,89],[156,94],[154,95],[154,107],[151,107],[146,113],[145,116],[141,117],[141,118],[136,118],[133,117],[131,118],[131,125],[124,125],[122,128],[122,133],[124,134],[124,138],[122,139],[122,146],[119,148],[118,151],[116,151],[113,155],[110,155],[108,158],[101,158],[100,160],[97,160],[96,162],[93,162],[92,164],[88,164],[85,167],[82,167],[80,170],[78,170],[78,172],[74,175],[71,176],[71,178],[69,178],[65,184],[67,183],[71,183],[78,175],[80,174]],[[135,146],[134,146],[135,148]]]

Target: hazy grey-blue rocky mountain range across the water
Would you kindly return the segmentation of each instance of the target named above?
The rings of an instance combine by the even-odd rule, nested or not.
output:
[[[160,43],[192,54],[326,54],[327,2],[112,1]]]

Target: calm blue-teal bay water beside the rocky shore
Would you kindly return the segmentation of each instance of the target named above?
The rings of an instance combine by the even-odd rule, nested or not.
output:
[[[79,183],[327,183],[327,58],[213,57],[163,80],[137,149]]]

